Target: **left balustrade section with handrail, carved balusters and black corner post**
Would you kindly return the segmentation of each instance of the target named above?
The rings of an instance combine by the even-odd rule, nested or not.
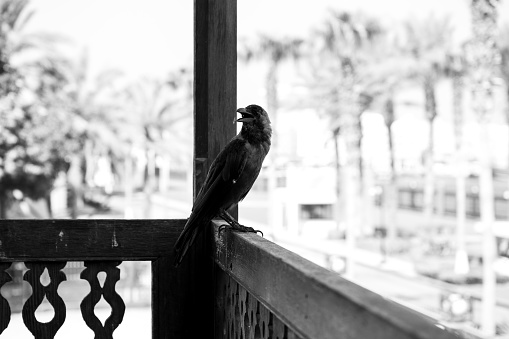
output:
[[[207,279],[212,281],[206,267],[211,260],[202,253],[207,244],[200,239],[190,260],[178,270],[173,267],[173,243],[184,224],[185,220],[1,220],[0,288],[12,281],[6,271],[12,262],[24,262],[28,271],[23,279],[32,294],[23,305],[23,322],[34,338],[53,338],[66,318],[66,305],[58,294],[58,286],[67,280],[64,267],[68,261],[84,261],[80,278],[88,281],[90,292],[80,305],[83,320],[95,338],[112,338],[125,312],[124,301],[115,290],[118,265],[151,261],[153,338],[203,337],[212,332],[213,325],[212,306],[204,307],[212,305],[211,289],[203,288]],[[45,271],[49,281],[41,282]],[[102,285],[100,272],[106,274]],[[39,322],[35,316],[44,298],[54,310],[49,322]],[[111,306],[104,325],[94,314],[101,298]],[[2,338],[11,310],[1,295],[0,312]],[[193,316],[205,319],[202,327],[195,326]]]

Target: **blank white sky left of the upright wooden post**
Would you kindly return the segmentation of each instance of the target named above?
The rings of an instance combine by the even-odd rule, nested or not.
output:
[[[192,65],[193,1],[33,0],[30,29],[68,36],[76,54],[86,47],[94,73],[164,77]]]

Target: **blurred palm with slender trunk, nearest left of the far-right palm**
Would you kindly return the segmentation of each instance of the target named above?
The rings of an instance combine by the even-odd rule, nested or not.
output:
[[[451,48],[452,28],[449,18],[429,16],[405,24],[401,50],[413,58],[408,77],[423,89],[424,111],[429,123],[428,149],[425,157],[424,214],[428,224],[433,217],[434,201],[434,121],[438,115],[436,85],[444,75],[447,55]]]

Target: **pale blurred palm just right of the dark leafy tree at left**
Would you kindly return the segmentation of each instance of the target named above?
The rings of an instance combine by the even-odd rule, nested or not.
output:
[[[65,78],[59,85],[61,100],[66,102],[68,118],[81,143],[80,150],[71,157],[67,172],[70,214],[75,218],[83,204],[85,188],[94,186],[98,155],[118,158],[128,147],[118,132],[122,114],[117,97],[122,73],[107,70],[91,77],[86,51],[77,60],[64,63],[62,69]]]

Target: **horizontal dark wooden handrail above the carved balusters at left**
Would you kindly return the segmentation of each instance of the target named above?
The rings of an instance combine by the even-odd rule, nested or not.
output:
[[[185,220],[2,220],[1,261],[172,256]]]

